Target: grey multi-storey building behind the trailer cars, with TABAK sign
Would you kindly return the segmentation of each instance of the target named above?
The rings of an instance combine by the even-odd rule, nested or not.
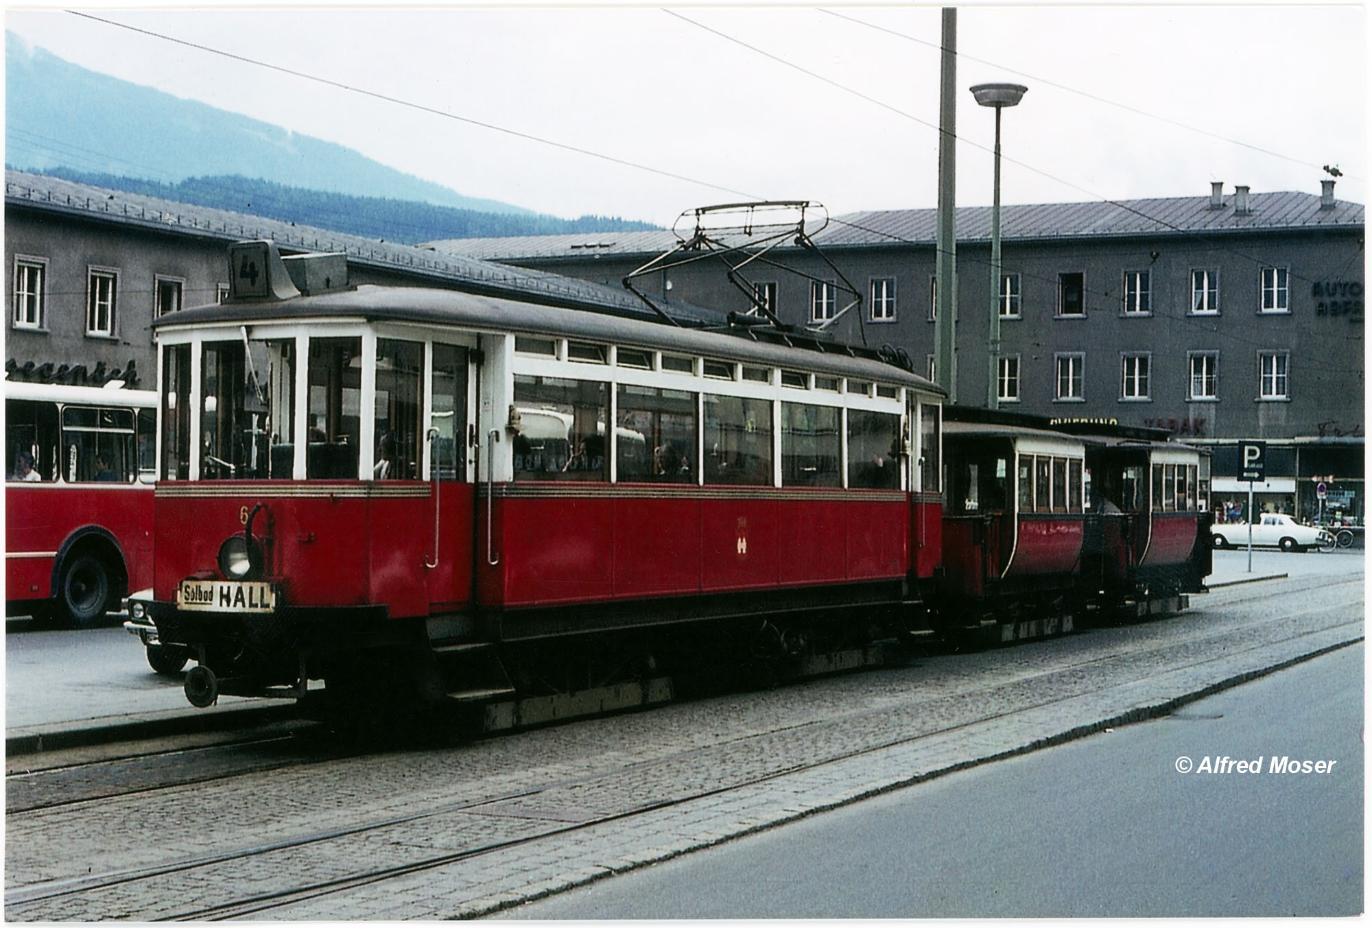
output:
[[[956,398],[985,405],[991,210],[958,210]],[[689,228],[686,232],[689,233]],[[834,217],[814,240],[748,268],[778,316],[823,321],[847,279],[862,305],[833,323],[845,340],[904,349],[933,362],[934,210]],[[606,286],[676,242],[671,232],[456,239],[428,247],[580,276]],[[1168,428],[1213,449],[1211,504],[1246,500],[1236,442],[1268,443],[1257,502],[1269,511],[1362,519],[1364,207],[1321,194],[1253,194],[1002,210],[996,364],[1003,408],[1058,419]],[[815,283],[819,279],[819,284]],[[836,280],[836,283],[840,283]],[[719,262],[654,272],[660,299],[720,312],[749,298]]]

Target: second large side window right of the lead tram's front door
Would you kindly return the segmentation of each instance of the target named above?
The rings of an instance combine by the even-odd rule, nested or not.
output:
[[[622,384],[616,476],[628,483],[696,482],[696,394]]]

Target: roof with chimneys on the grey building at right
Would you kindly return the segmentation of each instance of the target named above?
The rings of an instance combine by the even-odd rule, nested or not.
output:
[[[1235,210],[1235,198],[1222,198],[1220,209],[1210,196],[1172,196],[1142,200],[1089,203],[1040,203],[1002,206],[1002,242],[1061,239],[1206,236],[1235,232],[1283,232],[1312,229],[1361,229],[1361,203],[1334,200],[1321,209],[1316,194],[1250,194],[1249,211]],[[814,233],[822,248],[919,244],[933,247],[937,210],[868,210],[830,218]],[[958,240],[991,239],[991,207],[958,210]],[[501,239],[440,239],[427,242],[449,254],[471,258],[532,261],[594,258],[597,255],[656,255],[676,244],[670,231],[591,232],[584,235],[534,235]],[[790,246],[793,247],[793,246]]]

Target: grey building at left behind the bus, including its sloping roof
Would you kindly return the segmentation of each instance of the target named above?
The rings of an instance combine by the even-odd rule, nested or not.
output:
[[[229,288],[228,246],[343,253],[354,284],[516,288],[541,301],[646,312],[622,287],[328,232],[243,213],[5,172],[7,376],[152,388],[152,320]]]

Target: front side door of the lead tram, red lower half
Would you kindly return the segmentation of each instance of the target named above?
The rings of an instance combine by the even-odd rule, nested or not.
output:
[[[473,409],[471,351],[434,343],[429,413],[424,430],[429,486],[434,493],[434,549],[425,555],[432,611],[461,610],[472,601],[472,526],[476,498],[468,441]]]

